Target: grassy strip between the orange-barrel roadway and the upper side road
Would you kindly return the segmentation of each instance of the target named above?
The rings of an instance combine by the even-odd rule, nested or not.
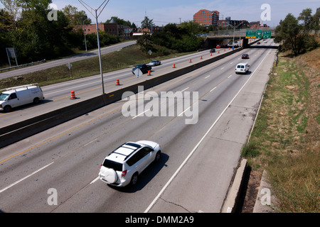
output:
[[[154,58],[163,60],[165,58],[183,55],[177,54],[176,52],[171,50],[167,50],[166,52],[169,52],[171,54],[161,56],[153,53],[151,55],[151,60]],[[138,45],[134,45],[132,47],[119,50],[117,52],[102,55],[102,70],[104,73],[112,72],[114,70],[133,67],[137,64],[148,63],[150,60],[149,57],[150,56],[148,54],[140,50]],[[71,70],[68,70],[68,67],[66,65],[61,65],[58,67],[49,68],[47,70],[23,74],[18,77],[1,79],[0,90],[8,87],[33,83],[38,83],[38,85],[44,86],[48,84],[55,84],[58,82],[65,82],[70,79],[78,79],[95,74],[100,74],[100,65],[98,57],[92,57],[87,60],[72,62],[71,65]]]

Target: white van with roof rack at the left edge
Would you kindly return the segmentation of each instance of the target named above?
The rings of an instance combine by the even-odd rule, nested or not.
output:
[[[41,87],[36,84],[11,87],[5,90],[0,94],[0,111],[8,112],[14,107],[32,102],[38,104],[41,99],[44,99]]]

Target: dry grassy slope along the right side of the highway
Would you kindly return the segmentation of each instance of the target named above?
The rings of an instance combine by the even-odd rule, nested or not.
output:
[[[276,212],[319,212],[320,48],[279,53],[242,156],[255,174],[267,170]]]

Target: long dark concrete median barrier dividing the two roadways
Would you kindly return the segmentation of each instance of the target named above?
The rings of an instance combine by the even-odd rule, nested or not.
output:
[[[99,109],[102,106],[106,106],[108,104],[114,103],[115,101],[119,101],[122,99],[122,94],[124,92],[130,91],[136,94],[137,92],[139,92],[139,86],[144,86],[144,89],[149,89],[161,83],[167,82],[170,79],[180,77],[183,74],[192,72],[193,70],[197,70],[205,65],[209,65],[217,60],[222,59],[223,57],[228,57],[229,55],[232,55],[240,50],[242,50],[242,48],[225,52],[216,57],[210,57],[208,58],[208,60],[203,60],[201,62],[194,63],[192,65],[189,65],[188,67],[183,67],[178,70],[176,69],[173,72],[169,72],[168,74],[163,74],[158,77],[146,79],[145,81],[139,82],[138,84],[124,87],[108,94],[102,94],[92,99],[80,101],[76,104],[65,106],[61,109],[50,111],[46,114],[35,116],[33,118],[26,119],[25,121],[0,128],[0,148],[4,148],[7,145],[16,143],[19,140],[28,138],[31,135],[35,135],[36,133],[45,131],[48,128],[58,126],[60,123],[70,121],[73,118],[77,118],[78,116],[87,114],[88,112]]]

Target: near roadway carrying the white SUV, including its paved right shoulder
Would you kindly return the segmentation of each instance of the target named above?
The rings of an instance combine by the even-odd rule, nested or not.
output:
[[[266,45],[274,45],[272,40],[268,42]],[[240,58],[244,52],[250,59]],[[274,54],[275,50],[268,48],[241,50],[144,91],[196,92],[198,99],[189,100],[191,108],[197,109],[195,124],[186,124],[186,109],[175,116],[149,117],[145,113],[150,110],[144,109],[144,114],[125,117],[122,108],[128,104],[126,99],[2,148],[0,210],[220,212]],[[250,72],[235,74],[238,62],[248,62]],[[171,64],[172,61],[168,65],[164,61],[163,70],[169,70]],[[119,72],[127,74],[121,80],[132,78],[130,73]],[[79,91],[88,94],[86,91],[93,89],[99,94],[97,84]],[[62,92],[53,93],[55,90],[50,87],[43,90],[50,99],[65,96]],[[68,88],[65,90],[69,93]],[[34,111],[36,107],[30,109]],[[139,175],[137,187],[118,189],[97,179],[107,154],[124,142],[137,140],[154,140],[162,148],[160,162]],[[51,203],[51,192],[57,193],[57,204]]]

